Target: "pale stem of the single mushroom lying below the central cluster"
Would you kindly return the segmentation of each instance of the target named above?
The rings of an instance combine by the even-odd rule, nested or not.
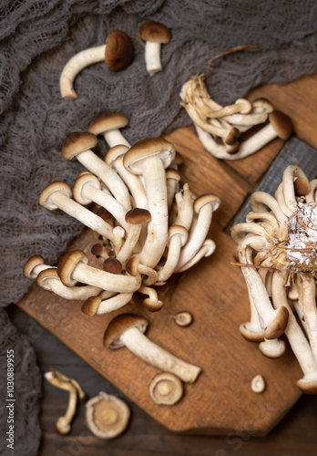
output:
[[[176,358],[167,350],[154,344],[137,327],[127,329],[121,340],[132,353],[152,366],[177,375],[185,382],[193,383],[198,378],[200,368]]]

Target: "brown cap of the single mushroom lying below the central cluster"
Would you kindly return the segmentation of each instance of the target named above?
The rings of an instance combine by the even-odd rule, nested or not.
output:
[[[104,346],[112,349],[125,347],[120,340],[120,336],[131,327],[137,327],[139,331],[145,333],[148,328],[148,321],[143,316],[135,314],[120,314],[115,316],[105,331]]]

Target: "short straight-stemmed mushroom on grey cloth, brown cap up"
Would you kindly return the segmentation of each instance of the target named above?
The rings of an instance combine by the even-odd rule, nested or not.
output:
[[[138,35],[145,44],[145,60],[149,75],[154,75],[162,70],[160,61],[160,45],[168,44],[170,31],[167,26],[159,22],[149,21],[140,26]]]

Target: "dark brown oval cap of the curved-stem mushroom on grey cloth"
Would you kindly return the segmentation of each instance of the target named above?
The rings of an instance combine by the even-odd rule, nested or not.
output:
[[[131,38],[122,30],[107,36],[105,62],[110,71],[122,71],[133,61],[134,48]]]

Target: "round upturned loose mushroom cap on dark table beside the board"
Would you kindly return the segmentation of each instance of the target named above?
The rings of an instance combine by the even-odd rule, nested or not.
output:
[[[130,410],[122,399],[102,391],[86,403],[87,426],[101,439],[113,439],[128,426]]]

